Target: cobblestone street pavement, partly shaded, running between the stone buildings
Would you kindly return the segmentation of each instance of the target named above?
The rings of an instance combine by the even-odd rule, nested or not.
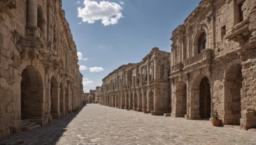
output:
[[[256,144],[256,132],[88,104],[51,125],[24,131],[0,144]]]

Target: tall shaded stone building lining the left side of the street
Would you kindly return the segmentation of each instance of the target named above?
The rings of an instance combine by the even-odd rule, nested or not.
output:
[[[0,1],[0,137],[81,106],[82,75],[61,0]]]

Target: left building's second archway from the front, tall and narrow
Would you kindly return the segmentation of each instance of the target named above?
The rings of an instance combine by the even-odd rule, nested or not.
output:
[[[57,78],[51,77],[51,115],[52,118],[60,118],[60,90]]]

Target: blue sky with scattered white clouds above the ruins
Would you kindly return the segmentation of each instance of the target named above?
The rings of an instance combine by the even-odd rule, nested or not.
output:
[[[170,52],[172,31],[200,0],[63,0],[79,52],[84,92],[109,72],[140,62],[153,47]],[[83,57],[82,57],[83,55]]]

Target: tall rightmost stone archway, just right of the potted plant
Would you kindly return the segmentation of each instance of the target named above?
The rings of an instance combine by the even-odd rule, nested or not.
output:
[[[224,81],[224,120],[226,125],[239,125],[241,118],[241,88],[243,87],[241,64],[229,66]]]

